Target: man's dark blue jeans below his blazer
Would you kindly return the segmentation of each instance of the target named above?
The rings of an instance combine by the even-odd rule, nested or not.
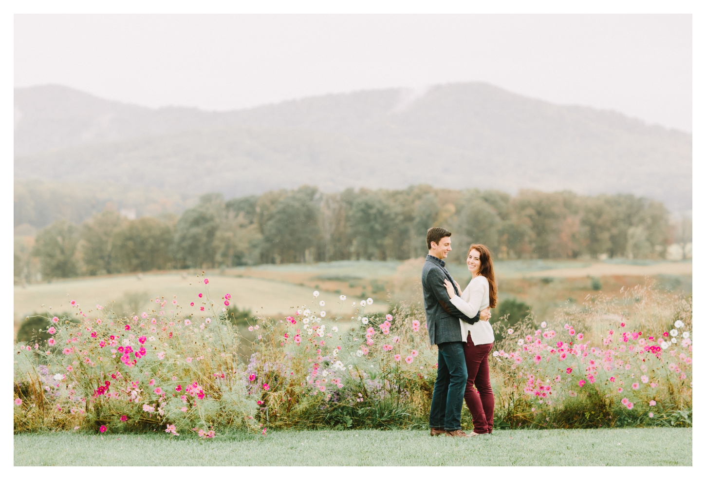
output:
[[[461,429],[461,409],[468,373],[462,341],[438,344],[439,357],[429,426],[444,430]]]

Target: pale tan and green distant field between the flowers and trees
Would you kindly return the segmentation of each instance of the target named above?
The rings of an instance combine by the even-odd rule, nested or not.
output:
[[[691,262],[651,261],[587,262],[582,260],[514,260],[496,262],[500,299],[520,298],[532,305],[535,313],[551,315],[566,300],[581,300],[594,293],[591,277],[601,279],[600,290],[617,293],[622,286],[644,283],[652,276],[659,286],[671,290],[691,291]],[[421,299],[420,271],[424,259],[405,262],[340,261],[317,264],[258,265],[224,269],[209,274],[212,298],[220,300],[225,293],[232,295],[238,308],[253,313],[282,315],[311,301],[314,289],[321,292],[316,300],[325,300],[330,314],[349,314],[352,303],[372,297],[368,312],[384,312],[390,302]],[[451,274],[462,285],[470,274],[463,264],[448,264]],[[198,286],[196,271],[88,277],[34,283],[14,288],[15,328],[32,312],[41,312],[42,305],[54,312],[68,310],[68,301],[76,300],[83,308],[95,308],[110,300],[120,301],[126,293],[145,292],[145,298],[177,295],[180,305],[188,305],[203,291]],[[191,283],[191,285],[190,285]],[[347,295],[341,302],[339,295]]]

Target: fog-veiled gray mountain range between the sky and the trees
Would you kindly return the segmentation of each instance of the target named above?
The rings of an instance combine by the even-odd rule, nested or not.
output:
[[[485,83],[322,95],[248,110],[150,109],[15,90],[16,179],[226,197],[414,184],[633,193],[691,209],[692,136]]]

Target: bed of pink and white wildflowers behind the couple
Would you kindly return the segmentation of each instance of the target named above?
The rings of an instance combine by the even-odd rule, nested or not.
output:
[[[313,292],[249,326],[254,353],[209,281],[130,318],[75,302],[51,338],[16,344],[14,428],[160,431],[208,441],[232,428],[426,428],[436,347],[419,305]],[[568,304],[553,319],[495,322],[496,428],[690,426],[691,300],[650,286]],[[78,319],[78,320],[76,320]],[[464,409],[465,426],[469,425]]]

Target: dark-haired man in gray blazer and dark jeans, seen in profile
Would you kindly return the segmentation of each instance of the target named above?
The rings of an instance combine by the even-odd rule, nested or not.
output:
[[[461,408],[468,377],[466,360],[461,338],[461,319],[469,324],[490,317],[485,309],[473,318],[464,315],[449,301],[443,284],[444,279],[453,283],[456,295],[460,292],[455,281],[445,269],[448,252],[451,251],[451,232],[441,227],[426,231],[426,247],[429,254],[421,270],[421,286],[424,289],[424,310],[426,327],[429,330],[429,343],[438,347],[438,368],[436,383],[431,397],[429,427],[431,436],[445,435],[468,437],[461,430]]]

